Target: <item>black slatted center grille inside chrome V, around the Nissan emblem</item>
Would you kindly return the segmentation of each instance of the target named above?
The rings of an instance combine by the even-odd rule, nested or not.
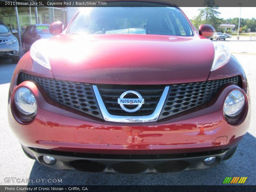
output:
[[[158,104],[159,99],[162,96],[165,85],[110,85],[110,84],[98,84],[97,85],[101,98],[108,110],[112,115],[118,116],[146,116],[151,115]],[[136,91],[139,92],[144,98],[144,104],[141,106],[140,110],[129,113],[124,111],[120,105],[117,103],[117,99],[125,91]],[[134,97],[133,94],[127,94],[128,98],[138,98]],[[137,105],[129,106],[125,105],[126,108],[135,108]]]

